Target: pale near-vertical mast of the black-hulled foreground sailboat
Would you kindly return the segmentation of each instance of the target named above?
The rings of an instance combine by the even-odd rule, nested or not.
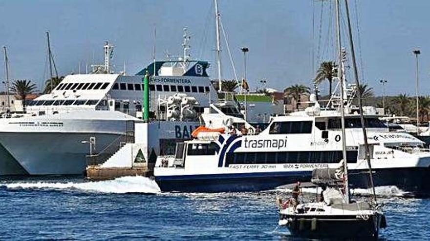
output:
[[[342,44],[341,44],[341,26],[340,26],[340,9],[339,9],[339,0],[335,0],[336,2],[336,39],[337,39],[337,47],[339,54],[339,67],[338,67],[338,78],[341,81],[341,101],[339,108],[341,109],[341,123],[342,123],[342,157],[344,159],[344,191],[345,191],[345,201],[349,204],[349,184],[348,184],[348,165],[346,160],[346,139],[345,139],[345,113],[344,113],[344,63],[342,61]]]

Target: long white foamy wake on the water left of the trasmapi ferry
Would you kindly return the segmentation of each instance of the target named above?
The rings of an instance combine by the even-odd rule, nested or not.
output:
[[[2,184],[9,189],[78,189],[101,193],[159,193],[161,192],[155,181],[142,176],[120,177],[114,180],[83,182],[83,183],[53,183],[53,182],[26,182]]]

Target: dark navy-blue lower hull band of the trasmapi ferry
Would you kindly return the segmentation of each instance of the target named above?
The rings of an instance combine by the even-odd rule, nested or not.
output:
[[[430,168],[387,168],[374,170],[376,186],[395,185],[417,195],[430,194]],[[353,188],[368,188],[367,170],[350,170]],[[208,174],[156,176],[162,191],[180,192],[241,192],[271,190],[297,181],[310,182],[311,171],[266,172],[240,174]]]

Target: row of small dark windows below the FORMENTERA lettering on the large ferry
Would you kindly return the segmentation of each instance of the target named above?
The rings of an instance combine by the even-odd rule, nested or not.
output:
[[[130,84],[130,83],[115,83],[112,87],[113,90],[122,91],[143,91],[144,84]],[[164,91],[164,92],[186,92],[186,93],[208,93],[209,86],[188,86],[188,85],[153,85],[150,84],[150,91]]]

